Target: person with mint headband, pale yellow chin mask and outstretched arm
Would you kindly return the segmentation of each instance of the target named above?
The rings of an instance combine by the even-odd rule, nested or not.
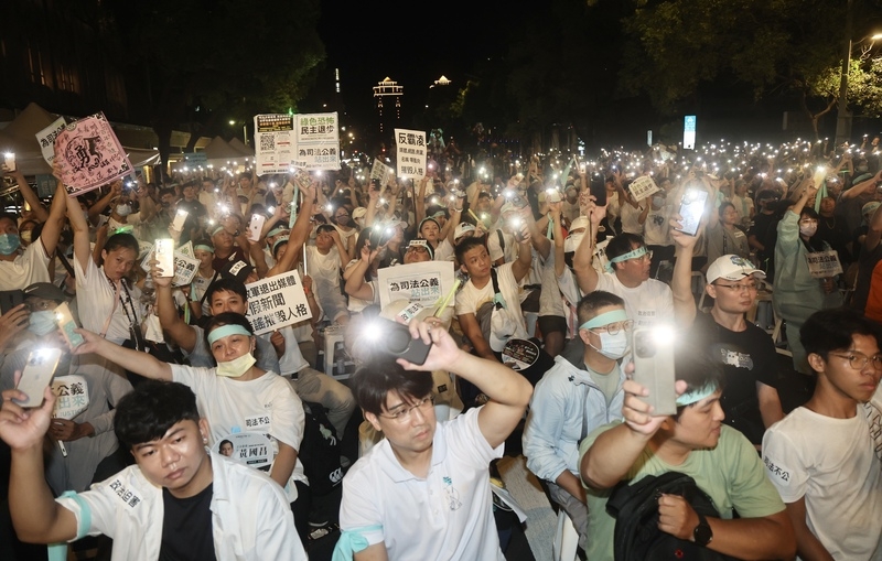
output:
[[[276,450],[256,458],[251,467],[269,467],[269,476],[284,488],[294,511],[294,526],[305,543],[309,528],[309,486],[298,450],[303,438],[303,404],[291,384],[257,367],[256,337],[248,320],[235,312],[212,316],[205,341],[217,366],[192,367],[163,363],[147,353],[115,345],[86,330],[78,355],[95,353],[121,367],[155,380],[190,387],[208,421],[207,445],[219,453],[224,440],[263,443]],[[243,436],[247,434],[247,436]],[[266,441],[266,442],[263,442]]]

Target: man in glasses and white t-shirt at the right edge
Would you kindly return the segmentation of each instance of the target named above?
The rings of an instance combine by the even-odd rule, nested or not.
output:
[[[880,559],[882,376],[879,327],[822,310],[799,330],[811,398],[763,438],[763,463],[796,529],[800,559]]]

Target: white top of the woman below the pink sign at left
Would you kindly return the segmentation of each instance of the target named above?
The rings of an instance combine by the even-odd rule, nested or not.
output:
[[[130,321],[132,310],[136,317],[131,320],[135,320],[139,326],[141,317],[143,317],[140,303],[141,291],[138,287],[128,284],[128,289],[123,289],[120,281],[117,296],[117,290],[105,274],[104,267],[99,269],[90,256],[86,259],[88,266],[85,271],[79,266],[79,259],[73,261],[76,274],[76,300],[83,327],[100,334],[107,319],[112,314],[105,338],[116,344],[128,339],[130,337],[129,326],[132,323]],[[119,299],[118,302],[117,299]],[[114,305],[115,303],[116,305]]]

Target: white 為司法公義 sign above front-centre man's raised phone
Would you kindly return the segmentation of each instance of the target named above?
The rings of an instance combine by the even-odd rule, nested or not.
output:
[[[451,291],[454,282],[452,261],[383,267],[377,274],[380,306],[396,300],[407,300],[431,308]]]

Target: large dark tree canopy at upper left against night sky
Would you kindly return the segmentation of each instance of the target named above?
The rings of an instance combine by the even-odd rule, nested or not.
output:
[[[168,162],[172,130],[198,137],[230,119],[287,112],[314,82],[324,58],[318,0],[110,0],[108,18],[123,45],[118,64],[146,84],[149,119]],[[146,78],[144,78],[146,77]],[[133,88],[130,88],[133,89]]]

